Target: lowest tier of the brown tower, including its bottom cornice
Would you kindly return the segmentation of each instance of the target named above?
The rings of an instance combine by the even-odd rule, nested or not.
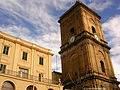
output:
[[[64,90],[120,90],[120,82],[114,77],[107,77],[98,73],[89,73],[76,80],[64,82]]]

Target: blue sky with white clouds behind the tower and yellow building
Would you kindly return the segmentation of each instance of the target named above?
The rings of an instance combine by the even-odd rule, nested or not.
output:
[[[120,0],[81,0],[101,16],[120,80]],[[59,17],[76,0],[0,0],[0,31],[52,50],[52,70],[61,72]],[[56,66],[57,60],[57,66]]]

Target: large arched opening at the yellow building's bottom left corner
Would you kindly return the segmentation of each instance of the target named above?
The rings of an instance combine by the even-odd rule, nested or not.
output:
[[[10,81],[5,81],[2,84],[1,90],[15,90],[15,85]]]

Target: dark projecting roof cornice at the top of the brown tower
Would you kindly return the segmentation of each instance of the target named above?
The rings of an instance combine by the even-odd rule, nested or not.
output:
[[[76,7],[84,7],[85,9],[89,10],[91,13],[93,13],[95,16],[97,16],[99,19],[101,19],[101,16],[99,16],[95,11],[87,7],[85,4],[83,4],[81,1],[76,1],[76,3],[69,9],[67,10],[61,17],[60,20],[62,20],[66,15],[68,15],[72,10],[74,10]],[[58,22],[60,22],[60,20]]]

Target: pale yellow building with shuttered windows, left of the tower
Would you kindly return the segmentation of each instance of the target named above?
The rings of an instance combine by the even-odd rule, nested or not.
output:
[[[63,90],[52,80],[52,55],[50,49],[0,32],[0,90]]]

